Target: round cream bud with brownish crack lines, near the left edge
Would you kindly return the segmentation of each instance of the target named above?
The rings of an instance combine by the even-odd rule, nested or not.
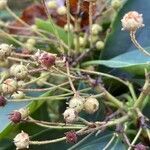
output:
[[[2,92],[4,94],[12,94],[16,92],[17,88],[18,88],[17,81],[11,78],[6,79],[2,84]]]

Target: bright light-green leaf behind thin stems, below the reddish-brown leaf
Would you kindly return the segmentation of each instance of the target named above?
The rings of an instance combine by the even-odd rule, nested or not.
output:
[[[45,30],[53,35],[56,35],[56,37],[58,36],[63,42],[68,44],[68,32],[66,32],[63,28],[57,26],[53,22],[36,19],[36,25],[39,29]],[[72,33],[69,33],[69,41],[72,45],[73,44]]]

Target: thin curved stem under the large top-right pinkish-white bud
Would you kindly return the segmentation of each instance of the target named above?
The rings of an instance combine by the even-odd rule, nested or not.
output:
[[[131,41],[133,42],[133,44],[141,51],[143,52],[145,55],[150,56],[150,53],[147,52],[136,40],[135,38],[135,32],[131,31],[130,32],[130,37],[131,37]]]

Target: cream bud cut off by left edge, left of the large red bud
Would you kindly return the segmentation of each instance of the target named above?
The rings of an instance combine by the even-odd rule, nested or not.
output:
[[[12,52],[12,45],[8,44],[0,44],[0,60],[4,60],[8,56],[10,56]]]

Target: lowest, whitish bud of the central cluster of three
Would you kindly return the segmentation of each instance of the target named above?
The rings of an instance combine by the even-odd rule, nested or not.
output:
[[[68,108],[63,113],[66,123],[73,123],[77,119],[77,112],[73,108]]]

